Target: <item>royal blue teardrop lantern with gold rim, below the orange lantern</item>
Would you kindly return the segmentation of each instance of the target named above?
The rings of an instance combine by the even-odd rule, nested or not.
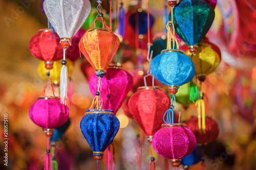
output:
[[[113,110],[87,110],[80,123],[81,132],[93,150],[93,158],[101,160],[119,130]]]

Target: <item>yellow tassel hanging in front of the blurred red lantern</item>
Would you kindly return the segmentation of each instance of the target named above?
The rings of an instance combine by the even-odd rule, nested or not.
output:
[[[196,102],[196,107],[197,107],[197,111],[198,111],[198,128],[199,128],[199,132],[201,134],[202,133],[205,134],[206,133],[205,132],[205,104],[204,104],[204,100],[203,100],[203,92],[202,91],[200,91],[200,98]]]

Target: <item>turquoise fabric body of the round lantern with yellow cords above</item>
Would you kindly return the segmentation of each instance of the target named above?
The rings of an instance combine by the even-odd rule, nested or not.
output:
[[[153,76],[161,83],[168,86],[181,86],[194,77],[195,65],[183,53],[165,52],[152,60],[151,71]]]

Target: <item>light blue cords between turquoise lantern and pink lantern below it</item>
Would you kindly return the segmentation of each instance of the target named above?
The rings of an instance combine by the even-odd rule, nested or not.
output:
[[[170,124],[170,123],[174,124],[174,111],[179,111],[179,110],[176,110],[175,105],[176,105],[176,100],[175,100],[175,95],[173,94],[172,105],[170,105],[170,108],[163,115],[163,121],[165,124]],[[180,123],[180,113],[179,113],[179,123]]]

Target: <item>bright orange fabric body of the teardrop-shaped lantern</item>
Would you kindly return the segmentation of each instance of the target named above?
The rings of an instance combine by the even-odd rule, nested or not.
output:
[[[119,44],[119,38],[112,32],[94,29],[82,36],[79,48],[94,69],[105,70],[112,61]]]

